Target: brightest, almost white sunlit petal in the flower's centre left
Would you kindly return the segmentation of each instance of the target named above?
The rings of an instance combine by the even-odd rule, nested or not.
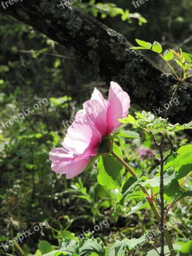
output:
[[[80,118],[68,128],[62,145],[73,153],[82,154],[85,149],[97,148],[101,137],[90,121]]]

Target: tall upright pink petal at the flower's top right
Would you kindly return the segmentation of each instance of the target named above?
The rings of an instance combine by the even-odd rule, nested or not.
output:
[[[128,93],[124,92],[119,84],[111,82],[108,101],[110,105],[108,106],[106,119],[108,124],[107,133],[111,134],[121,125],[118,119],[123,119],[128,115],[130,98]]]

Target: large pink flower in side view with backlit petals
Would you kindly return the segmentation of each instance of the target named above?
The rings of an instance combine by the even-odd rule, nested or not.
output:
[[[50,153],[52,170],[66,173],[67,179],[83,172],[93,156],[97,155],[99,143],[113,133],[128,115],[130,98],[119,84],[111,82],[108,101],[95,88],[92,97],[83,104],[83,110],[76,113],[75,121],[68,128],[63,148]]]

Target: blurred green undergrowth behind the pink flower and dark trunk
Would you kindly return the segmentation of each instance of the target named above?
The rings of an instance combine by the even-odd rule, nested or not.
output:
[[[139,20],[128,17],[128,20],[122,21],[119,9],[107,5],[101,12],[97,3],[108,2],[84,0],[83,5],[76,5],[122,33],[132,44],[135,44],[135,38],[139,38],[159,41],[164,48],[182,47],[192,52],[191,0],[149,0],[137,9],[132,1],[110,1],[130,13],[140,13],[147,23],[141,17]],[[170,72],[154,55],[150,52],[146,54]],[[35,232],[22,244],[10,247],[8,255],[41,255],[44,253],[42,241],[57,248],[59,239],[78,236],[82,230],[93,228],[104,219],[110,226],[100,229],[93,236],[99,236],[107,246],[125,236],[139,238],[146,227],[149,231],[157,230],[157,223],[145,209],[140,215],[125,218],[131,205],[121,209],[117,222],[111,218],[116,206],[116,191],[97,183],[96,166],[71,180],[51,171],[49,151],[61,146],[67,131],[62,120],[74,117],[76,111],[82,108],[82,103],[90,98],[94,87],[107,96],[107,86],[95,70],[82,63],[73,52],[32,27],[0,13],[0,243],[13,239],[22,230],[32,229],[45,219],[49,223],[48,229]],[[33,109],[33,105],[45,97],[49,105],[43,105],[26,116],[23,122],[3,128],[1,122],[9,121],[22,109]],[[140,111],[138,106],[131,105],[130,113],[136,110]],[[151,137],[143,131],[138,132],[141,139],[127,139],[126,142],[119,139],[117,143],[125,160],[141,177],[146,173],[152,174],[157,163],[149,154],[139,154],[145,148],[153,152],[155,149]],[[182,132],[175,134],[174,140],[175,149],[191,143],[191,138]],[[124,182],[127,177],[128,174],[124,175]],[[186,186],[192,189],[192,179]],[[183,207],[177,204],[170,212],[170,217],[177,218],[179,223],[177,227],[172,227],[172,232],[180,242],[192,239],[190,212],[191,198],[183,199]],[[155,241],[158,247],[157,243],[158,239]],[[46,250],[52,250],[49,246]],[[147,249],[148,245],[144,244],[142,250]],[[5,251],[0,248],[0,255],[4,254]],[[190,253],[181,252],[180,255]]]

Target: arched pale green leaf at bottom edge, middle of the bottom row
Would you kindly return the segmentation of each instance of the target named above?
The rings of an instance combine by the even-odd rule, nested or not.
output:
[[[79,256],[85,256],[89,252],[94,252],[98,255],[105,256],[105,245],[99,237],[96,239],[94,239],[93,237],[91,237],[90,239],[83,238],[81,239],[79,247]]]

